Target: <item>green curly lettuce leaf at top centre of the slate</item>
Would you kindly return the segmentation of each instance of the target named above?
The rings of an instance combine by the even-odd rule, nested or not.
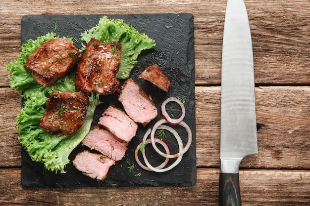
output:
[[[118,79],[128,79],[141,51],[155,46],[155,41],[146,34],[139,33],[122,19],[109,19],[107,16],[103,16],[96,27],[85,31],[81,36],[81,40],[85,42],[95,38],[102,43],[118,41],[122,44],[120,68],[116,74]]]

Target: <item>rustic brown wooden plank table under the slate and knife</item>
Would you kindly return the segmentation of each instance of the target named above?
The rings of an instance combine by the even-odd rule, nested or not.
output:
[[[240,168],[244,206],[310,204],[309,0],[245,0],[253,38],[257,155]],[[0,205],[218,205],[220,71],[225,0],[2,0]],[[15,118],[21,98],[5,66],[20,52],[20,20],[41,14],[192,13],[195,24],[197,183],[193,187],[22,189]]]

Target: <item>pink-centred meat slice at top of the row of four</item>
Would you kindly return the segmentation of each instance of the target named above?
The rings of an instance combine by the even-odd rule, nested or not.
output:
[[[143,126],[157,116],[155,103],[132,79],[128,79],[124,83],[118,100],[122,103],[128,116]]]

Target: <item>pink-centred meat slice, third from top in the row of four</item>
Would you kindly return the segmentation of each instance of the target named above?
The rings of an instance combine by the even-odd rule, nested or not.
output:
[[[127,144],[119,142],[111,132],[99,125],[90,130],[82,144],[115,161],[121,160],[127,150]]]

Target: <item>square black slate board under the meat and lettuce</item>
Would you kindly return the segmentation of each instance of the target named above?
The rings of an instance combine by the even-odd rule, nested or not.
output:
[[[59,24],[56,33],[60,37],[72,36],[79,40],[80,34],[98,24],[103,15],[31,15],[21,20],[21,42],[36,39],[53,30]],[[104,186],[192,186],[196,183],[196,123],[195,123],[195,72],[194,72],[194,21],[192,14],[136,14],[107,15],[109,18],[123,19],[139,32],[146,33],[155,40],[156,46],[143,51],[138,57],[138,64],[131,72],[130,78],[153,98],[158,108],[158,117],[146,127],[139,125],[136,137],[130,142],[124,158],[112,165],[105,180],[99,181],[83,175],[72,164],[65,167],[66,173],[55,173],[44,168],[43,164],[33,162],[25,149],[22,149],[22,187],[104,187]],[[166,26],[170,27],[167,28]],[[75,43],[81,47],[81,43]],[[138,75],[149,65],[159,65],[171,82],[168,92],[154,87],[150,82],[137,79]],[[121,81],[122,84],[123,81]],[[183,155],[179,165],[162,173],[149,172],[140,168],[134,160],[134,148],[142,141],[145,131],[161,119],[160,104],[171,96],[186,97],[186,117],[193,132],[193,142],[189,151]],[[109,104],[122,108],[117,101],[117,94],[102,96],[104,104],[95,112],[93,125],[98,123],[103,111]],[[175,111],[173,111],[175,114]],[[175,114],[176,116],[178,114]],[[179,129],[179,128],[178,128]],[[187,133],[180,130],[184,145]],[[171,153],[178,148],[174,138],[167,138]],[[151,145],[150,145],[151,146]],[[83,151],[85,146],[73,150],[69,159]],[[95,152],[95,151],[92,151]],[[156,154],[153,154],[155,156]],[[158,156],[157,156],[158,157]],[[155,158],[154,158],[155,159]],[[157,159],[157,158],[156,158]],[[152,162],[152,161],[151,161]],[[155,163],[154,163],[155,164]],[[130,169],[129,167],[132,167]]]

